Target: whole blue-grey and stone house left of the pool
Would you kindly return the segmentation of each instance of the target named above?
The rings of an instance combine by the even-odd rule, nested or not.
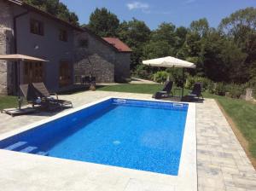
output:
[[[44,82],[49,90],[73,89],[75,79],[96,82],[130,77],[131,49],[98,37],[18,0],[0,0],[0,55],[31,55],[48,60],[22,62],[20,83]],[[119,41],[118,39],[116,39]],[[17,89],[15,63],[0,61],[0,94]]]

